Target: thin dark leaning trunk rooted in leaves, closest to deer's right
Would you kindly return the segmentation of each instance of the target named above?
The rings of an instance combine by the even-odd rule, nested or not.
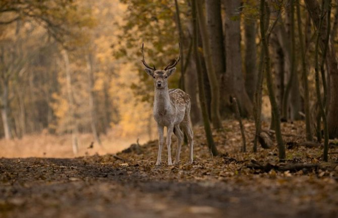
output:
[[[197,0],[198,2],[199,0]],[[208,112],[206,108],[206,101],[205,101],[205,95],[204,95],[204,86],[203,86],[203,74],[202,74],[202,66],[198,55],[198,43],[197,43],[197,35],[198,35],[198,24],[196,19],[196,0],[192,0],[192,23],[193,23],[193,37],[194,37],[194,54],[196,59],[196,69],[197,69],[197,78],[198,78],[198,88],[199,88],[199,100],[201,104],[202,109],[202,116],[203,116],[203,123],[204,123],[204,131],[207,138],[208,148],[209,151],[213,156],[217,156],[218,152],[216,149],[216,146],[213,142],[212,138],[212,132],[210,128],[209,118],[208,118]]]

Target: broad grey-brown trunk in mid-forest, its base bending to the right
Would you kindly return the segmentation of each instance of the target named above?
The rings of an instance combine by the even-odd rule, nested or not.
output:
[[[236,0],[224,1],[226,7],[226,53],[227,72],[226,83],[230,96],[236,97],[242,116],[250,116],[253,112],[252,101],[246,90],[242,71],[241,29],[238,9],[241,2]]]

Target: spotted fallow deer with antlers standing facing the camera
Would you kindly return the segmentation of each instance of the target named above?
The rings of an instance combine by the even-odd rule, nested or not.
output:
[[[153,78],[154,82],[154,104],[153,104],[153,117],[157,123],[158,130],[158,155],[156,166],[161,165],[161,152],[163,148],[163,130],[166,127],[166,146],[168,149],[168,166],[173,165],[171,157],[171,143],[172,133],[178,139],[178,146],[174,165],[180,163],[180,153],[183,142],[183,132],[180,129],[182,126],[184,132],[188,137],[190,147],[189,163],[193,163],[193,148],[194,139],[193,131],[190,122],[190,95],[181,89],[168,89],[168,78],[176,71],[176,64],[181,59],[181,45],[179,44],[179,57],[169,63],[163,70],[156,69],[155,65],[149,66],[143,53],[142,43],[142,63],[146,67],[145,72]]]

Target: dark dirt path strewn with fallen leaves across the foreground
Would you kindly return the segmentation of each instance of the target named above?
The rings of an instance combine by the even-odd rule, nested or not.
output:
[[[198,175],[204,179],[180,177],[203,167],[198,161],[181,169],[106,158],[0,159],[0,217],[337,217],[336,183],[320,204],[305,199],[307,188],[252,189],[251,181],[215,179],[207,169]],[[323,189],[314,187],[315,198]]]

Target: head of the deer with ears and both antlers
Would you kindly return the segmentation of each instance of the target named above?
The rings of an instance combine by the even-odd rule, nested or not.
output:
[[[162,69],[156,69],[155,65],[153,67],[149,66],[146,61],[144,60],[144,53],[143,53],[143,43],[142,43],[142,63],[146,68],[144,70],[146,73],[151,76],[154,80],[154,86],[156,89],[163,89],[168,86],[167,78],[170,77],[176,70],[176,64],[181,59],[181,45],[179,43],[180,51],[179,51],[179,57],[169,63],[164,70]]]

